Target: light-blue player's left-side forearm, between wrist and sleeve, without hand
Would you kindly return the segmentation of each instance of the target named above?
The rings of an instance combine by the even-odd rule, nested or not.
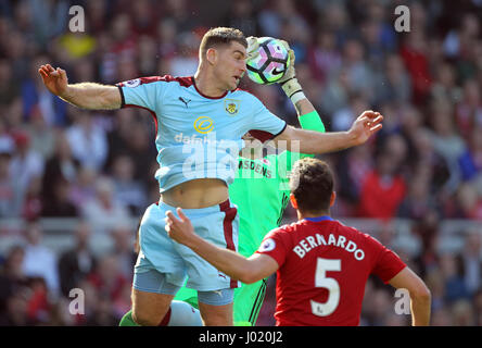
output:
[[[94,83],[68,85],[59,97],[78,108],[90,110],[119,109],[122,102],[117,87]]]

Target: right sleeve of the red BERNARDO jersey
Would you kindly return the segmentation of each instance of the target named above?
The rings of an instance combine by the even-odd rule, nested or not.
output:
[[[372,247],[378,251],[371,273],[379,276],[386,284],[407,265],[394,251],[384,247],[377,239],[369,236],[368,238],[370,238]]]

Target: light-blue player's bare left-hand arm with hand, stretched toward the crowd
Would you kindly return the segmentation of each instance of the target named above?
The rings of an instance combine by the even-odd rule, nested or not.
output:
[[[115,86],[94,83],[68,84],[67,74],[50,64],[41,65],[38,70],[46,87],[61,99],[83,109],[112,110],[119,109],[120,92]]]

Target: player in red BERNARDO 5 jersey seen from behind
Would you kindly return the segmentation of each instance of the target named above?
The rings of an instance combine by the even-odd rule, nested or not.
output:
[[[329,215],[333,176],[325,162],[303,159],[290,178],[299,221],[272,229],[249,259],[193,234],[181,209],[167,212],[166,229],[227,275],[253,283],[277,271],[277,325],[358,325],[368,276],[410,295],[413,325],[429,325],[431,295],[424,283],[377,239]]]

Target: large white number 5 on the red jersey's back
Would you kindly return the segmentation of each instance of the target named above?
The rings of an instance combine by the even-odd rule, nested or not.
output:
[[[327,271],[341,271],[341,260],[317,259],[315,286],[324,287],[328,290],[328,300],[325,303],[309,300],[312,312],[317,316],[330,315],[340,302],[340,285],[337,279],[327,277]]]

